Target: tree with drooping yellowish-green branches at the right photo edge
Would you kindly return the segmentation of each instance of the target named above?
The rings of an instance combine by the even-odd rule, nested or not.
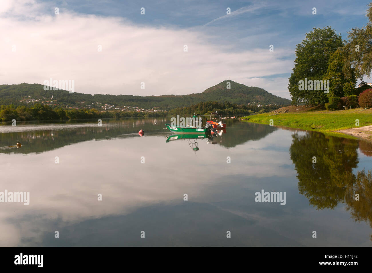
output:
[[[363,28],[352,28],[348,32],[348,41],[343,51],[349,64],[355,68],[356,76],[370,77],[372,70],[372,2],[368,4],[367,17],[369,22]],[[344,73],[350,72],[350,65],[345,64]]]

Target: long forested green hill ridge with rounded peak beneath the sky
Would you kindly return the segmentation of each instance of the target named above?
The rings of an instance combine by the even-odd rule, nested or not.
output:
[[[226,83],[231,83],[231,89],[226,89]],[[0,85],[0,105],[10,104],[27,105],[25,98],[50,99],[53,96],[54,101],[59,106],[83,106],[92,105],[96,102],[102,104],[115,105],[115,107],[131,106],[145,109],[161,108],[173,109],[177,107],[186,107],[198,104],[199,102],[228,101],[234,104],[248,104],[256,102],[260,104],[278,104],[289,105],[291,101],[275,96],[266,90],[258,87],[249,87],[232,80],[225,80],[206,89],[202,93],[190,95],[161,95],[161,96],[134,96],[134,95],[90,95],[83,93],[72,93],[68,91],[44,91],[44,86],[40,84],[21,83],[19,85]],[[22,102],[20,102],[22,100]],[[92,105],[93,107],[93,105]],[[167,108],[169,107],[169,108]]]

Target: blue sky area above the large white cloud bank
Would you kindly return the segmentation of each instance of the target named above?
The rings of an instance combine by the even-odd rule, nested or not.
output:
[[[79,13],[120,16],[138,25],[198,29],[216,36],[214,42],[225,42],[243,50],[270,44],[294,49],[314,27],[332,26],[346,38],[350,28],[368,22],[365,13],[369,2],[63,0],[56,3]],[[145,16],[140,15],[140,7],[145,7]],[[226,15],[227,7],[231,16]],[[312,14],[313,7],[317,8],[317,15]],[[234,15],[240,9],[243,11]]]

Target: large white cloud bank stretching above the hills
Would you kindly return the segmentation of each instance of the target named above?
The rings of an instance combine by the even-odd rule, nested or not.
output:
[[[293,54],[290,50],[236,52],[207,42],[202,31],[137,26],[64,9],[51,15],[49,6],[19,3],[0,15],[2,84],[42,84],[52,77],[75,80],[75,91],[81,93],[179,95],[200,93],[226,77],[248,85],[249,77],[290,72],[293,65],[282,60]],[[20,20],[22,14],[27,16]],[[277,86],[266,81],[262,87],[275,94]]]

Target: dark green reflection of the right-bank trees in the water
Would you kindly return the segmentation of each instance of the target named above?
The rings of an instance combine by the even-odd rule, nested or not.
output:
[[[317,209],[334,209],[338,203],[346,203],[346,210],[356,221],[366,221],[372,228],[371,170],[353,173],[359,164],[358,147],[371,156],[371,143],[316,132],[294,133],[292,138],[289,151],[298,174],[299,193]]]

